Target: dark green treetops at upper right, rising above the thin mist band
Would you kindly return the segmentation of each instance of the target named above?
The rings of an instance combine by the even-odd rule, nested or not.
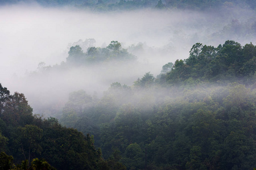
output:
[[[197,43],[193,45],[188,59],[177,60],[173,69],[162,76],[164,82],[186,85],[189,81],[254,83],[256,46],[241,46],[235,41],[226,41],[218,48]],[[162,80],[163,81],[163,80]]]

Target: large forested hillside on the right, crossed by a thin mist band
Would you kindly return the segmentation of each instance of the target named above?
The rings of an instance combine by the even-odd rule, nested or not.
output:
[[[60,122],[93,134],[105,158],[118,151],[127,169],[252,169],[255,49],[197,43],[156,78],[112,83],[102,99],[71,93]]]

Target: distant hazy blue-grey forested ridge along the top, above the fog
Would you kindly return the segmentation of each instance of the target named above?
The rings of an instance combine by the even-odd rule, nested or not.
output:
[[[136,10],[138,8],[158,8],[158,9],[189,9],[189,10],[209,10],[232,6],[246,6],[255,9],[256,3],[252,0],[237,1],[237,0],[213,0],[213,1],[181,1],[181,0],[140,0],[140,1],[124,1],[124,0],[3,0],[0,5],[9,5],[15,3],[38,3],[42,6],[74,6],[78,8],[87,8],[94,11],[119,11],[119,10]]]

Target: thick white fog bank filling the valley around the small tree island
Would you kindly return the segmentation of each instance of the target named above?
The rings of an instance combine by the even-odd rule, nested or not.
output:
[[[164,64],[188,58],[196,42],[214,46],[225,40],[255,43],[253,24],[254,11],[235,7],[217,12],[146,9],[101,13],[71,7],[2,6],[0,83],[11,93],[23,93],[34,111],[42,113],[39,105],[59,103],[61,107],[72,91],[83,89],[100,96],[113,82],[132,86],[144,73],[156,76]],[[69,47],[86,39],[94,39],[96,47],[119,41],[137,59],[40,73],[40,62],[60,65],[66,61]],[[141,48],[134,48],[138,44]],[[31,75],[34,71],[40,74]]]

